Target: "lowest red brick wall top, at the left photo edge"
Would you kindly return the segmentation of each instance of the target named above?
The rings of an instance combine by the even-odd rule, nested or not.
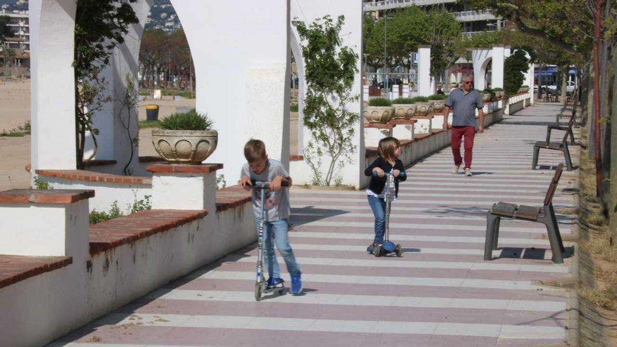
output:
[[[9,256],[0,254],[0,288],[72,264],[73,257]]]

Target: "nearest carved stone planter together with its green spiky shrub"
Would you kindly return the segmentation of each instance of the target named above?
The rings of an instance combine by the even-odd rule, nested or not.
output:
[[[207,115],[175,113],[152,130],[152,144],[170,164],[201,164],[217,148],[218,133]]]

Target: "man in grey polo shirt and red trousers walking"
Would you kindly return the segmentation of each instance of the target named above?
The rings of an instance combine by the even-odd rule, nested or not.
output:
[[[457,174],[463,162],[461,157],[461,140],[465,136],[465,176],[471,176],[471,154],[473,150],[473,138],[476,133],[476,109],[480,117],[478,132],[484,132],[484,102],[479,91],[472,90],[473,77],[465,75],[460,88],[450,91],[444,102],[444,130],[448,127],[448,115],[452,109],[452,154],[454,155],[454,167],[452,174]]]

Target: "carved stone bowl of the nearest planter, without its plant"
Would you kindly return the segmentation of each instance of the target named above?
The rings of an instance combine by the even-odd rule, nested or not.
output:
[[[152,129],[152,144],[170,164],[201,164],[217,149],[216,130]]]

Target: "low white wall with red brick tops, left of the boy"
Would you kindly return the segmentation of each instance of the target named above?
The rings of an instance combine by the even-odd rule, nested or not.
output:
[[[217,168],[154,175],[175,185],[200,175],[213,182],[207,176]],[[0,345],[45,345],[256,239],[250,193],[199,193],[204,203],[194,209],[165,209],[159,200],[157,209],[96,225],[88,225],[91,190],[0,193]],[[9,230],[21,238],[4,240]]]

